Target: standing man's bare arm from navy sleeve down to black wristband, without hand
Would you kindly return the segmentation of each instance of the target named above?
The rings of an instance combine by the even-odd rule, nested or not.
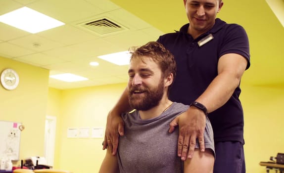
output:
[[[208,112],[223,106],[233,95],[245,71],[247,60],[236,53],[228,53],[220,57],[218,76],[196,101],[204,104]]]

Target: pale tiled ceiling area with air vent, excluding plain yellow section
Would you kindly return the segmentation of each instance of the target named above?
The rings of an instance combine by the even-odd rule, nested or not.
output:
[[[50,70],[50,75],[72,73],[89,81],[67,83],[49,78],[59,89],[125,83],[128,65],[97,58],[154,41],[163,34],[109,0],[0,0],[0,15],[27,6],[65,23],[37,34],[0,23],[0,56]],[[125,30],[99,35],[81,23],[107,18]],[[90,66],[92,61],[99,66]]]

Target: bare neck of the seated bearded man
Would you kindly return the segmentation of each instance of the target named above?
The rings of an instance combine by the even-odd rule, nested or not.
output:
[[[169,107],[171,107],[172,103],[173,102],[168,98],[162,99],[157,106],[146,111],[139,111],[140,117],[142,120],[158,117],[163,112],[165,112]]]

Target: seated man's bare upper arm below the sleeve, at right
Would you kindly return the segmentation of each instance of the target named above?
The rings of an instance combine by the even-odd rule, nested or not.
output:
[[[194,157],[184,161],[184,173],[213,173],[214,156],[210,149],[194,150]]]

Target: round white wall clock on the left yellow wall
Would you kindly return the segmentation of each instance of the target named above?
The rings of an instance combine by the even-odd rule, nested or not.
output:
[[[13,90],[19,85],[19,75],[13,69],[5,69],[0,76],[1,85],[8,90]]]

